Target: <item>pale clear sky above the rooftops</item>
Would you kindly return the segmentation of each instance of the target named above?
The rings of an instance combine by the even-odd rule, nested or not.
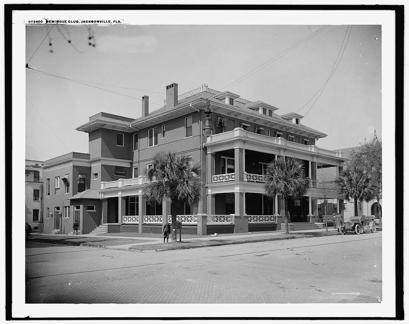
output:
[[[27,159],[87,153],[76,127],[100,111],[136,119],[144,95],[158,109],[173,82],[298,112],[328,135],[318,147],[382,137],[380,25],[51,27],[26,27]]]

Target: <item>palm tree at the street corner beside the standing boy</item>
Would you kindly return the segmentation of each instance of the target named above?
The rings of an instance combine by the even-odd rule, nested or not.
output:
[[[201,198],[202,184],[200,164],[192,165],[189,156],[158,152],[153,157],[153,168],[146,172],[149,180],[143,196],[153,205],[163,200],[170,202],[172,227],[176,227],[176,209],[183,203],[193,205]],[[176,231],[172,230],[172,242],[176,242]]]

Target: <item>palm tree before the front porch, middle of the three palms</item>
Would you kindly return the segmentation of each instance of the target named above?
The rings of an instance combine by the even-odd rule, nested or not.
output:
[[[280,156],[268,164],[264,190],[269,199],[284,196],[285,234],[288,234],[288,197],[304,196],[308,188],[309,179],[304,177],[303,164],[298,158]]]

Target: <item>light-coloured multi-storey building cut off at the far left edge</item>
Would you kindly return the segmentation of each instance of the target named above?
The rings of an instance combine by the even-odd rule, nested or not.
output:
[[[40,230],[43,215],[43,161],[26,160],[26,222],[34,231]]]

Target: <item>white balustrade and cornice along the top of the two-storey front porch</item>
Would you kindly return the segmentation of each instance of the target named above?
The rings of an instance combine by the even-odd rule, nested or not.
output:
[[[262,135],[262,134],[257,134],[253,132],[249,132],[244,130],[243,128],[235,128],[234,130],[224,132],[224,133],[219,133],[219,134],[214,134],[207,139],[207,143],[221,143],[221,142],[228,142],[231,140],[235,139],[245,139],[245,140],[251,140],[251,141],[256,141],[257,143],[266,143],[266,144],[272,144],[280,148],[286,148],[286,149],[295,149],[295,150],[301,150],[304,152],[311,152],[319,155],[325,155],[328,157],[338,157],[342,158],[342,153],[341,152],[336,152],[336,151],[331,151],[323,148],[319,148],[316,145],[304,145],[300,143],[294,143],[285,140],[283,137],[270,137],[267,135]]]

